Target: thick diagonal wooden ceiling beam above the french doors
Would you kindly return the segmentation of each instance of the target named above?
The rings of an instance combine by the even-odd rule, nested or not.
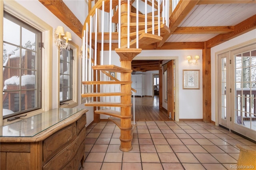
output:
[[[225,41],[233,39],[253,29],[256,29],[256,15],[251,16],[250,18],[235,25],[233,32],[226,33],[226,34],[219,34],[216,37],[209,39],[208,41],[206,41],[206,47],[212,48],[216,45],[224,43]]]

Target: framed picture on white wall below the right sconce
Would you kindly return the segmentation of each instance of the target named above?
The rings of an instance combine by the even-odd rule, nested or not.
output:
[[[183,89],[200,89],[200,70],[182,70]]]

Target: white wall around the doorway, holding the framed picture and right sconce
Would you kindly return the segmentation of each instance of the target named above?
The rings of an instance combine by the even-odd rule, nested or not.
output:
[[[177,59],[176,68],[178,68],[178,108],[176,111],[179,113],[177,115],[179,119],[202,119],[202,50],[161,50],[161,55],[159,55],[159,50],[147,50],[142,51],[138,56],[134,59],[136,60],[154,60],[154,59]],[[188,65],[186,56],[191,55],[194,57],[195,55],[200,56],[200,60],[198,61],[198,65],[191,64]],[[118,58],[118,60],[117,60]],[[112,51],[112,64],[119,62],[119,56]],[[104,53],[104,61],[108,61],[108,53]],[[120,64],[117,64],[118,66]],[[200,90],[183,90],[182,89],[182,70],[184,69],[196,69],[200,70]],[[150,80],[152,81],[152,75]],[[150,96],[150,93],[147,95]],[[152,95],[152,94],[151,94]]]

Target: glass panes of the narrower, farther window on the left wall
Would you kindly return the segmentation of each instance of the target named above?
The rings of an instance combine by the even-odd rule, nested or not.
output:
[[[72,100],[73,50],[60,51],[60,105]]]

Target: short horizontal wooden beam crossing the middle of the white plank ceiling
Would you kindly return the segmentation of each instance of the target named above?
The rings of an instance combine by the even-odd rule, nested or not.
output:
[[[234,26],[177,27],[173,34],[222,34],[234,31]]]

